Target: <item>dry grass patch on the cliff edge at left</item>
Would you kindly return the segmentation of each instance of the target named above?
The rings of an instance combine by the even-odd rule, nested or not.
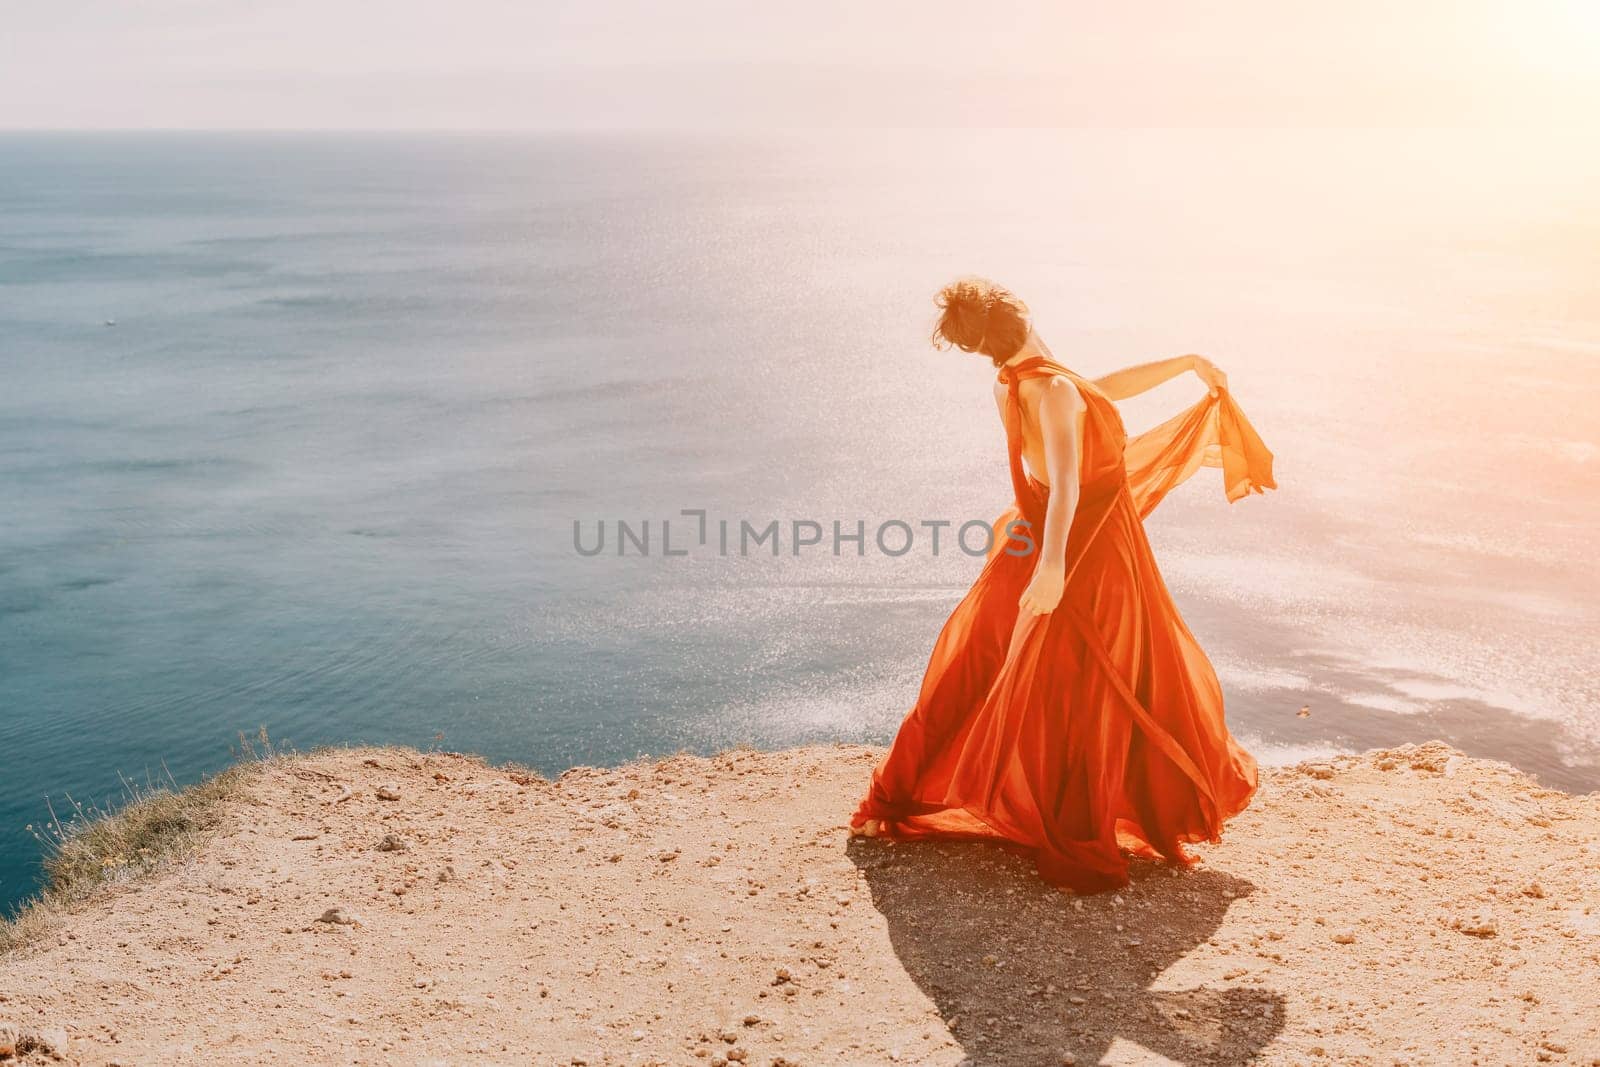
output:
[[[253,765],[283,753],[266,729],[238,741],[232,766],[187,789],[163,766],[166,777],[160,781],[123,777],[122,797],[104,808],[70,797],[64,814],[51,806],[50,822],[29,827],[45,853],[45,888],[16,915],[0,918],[0,953],[34,941],[99,888],[192,856],[218,827],[221,803],[242,793]]]

